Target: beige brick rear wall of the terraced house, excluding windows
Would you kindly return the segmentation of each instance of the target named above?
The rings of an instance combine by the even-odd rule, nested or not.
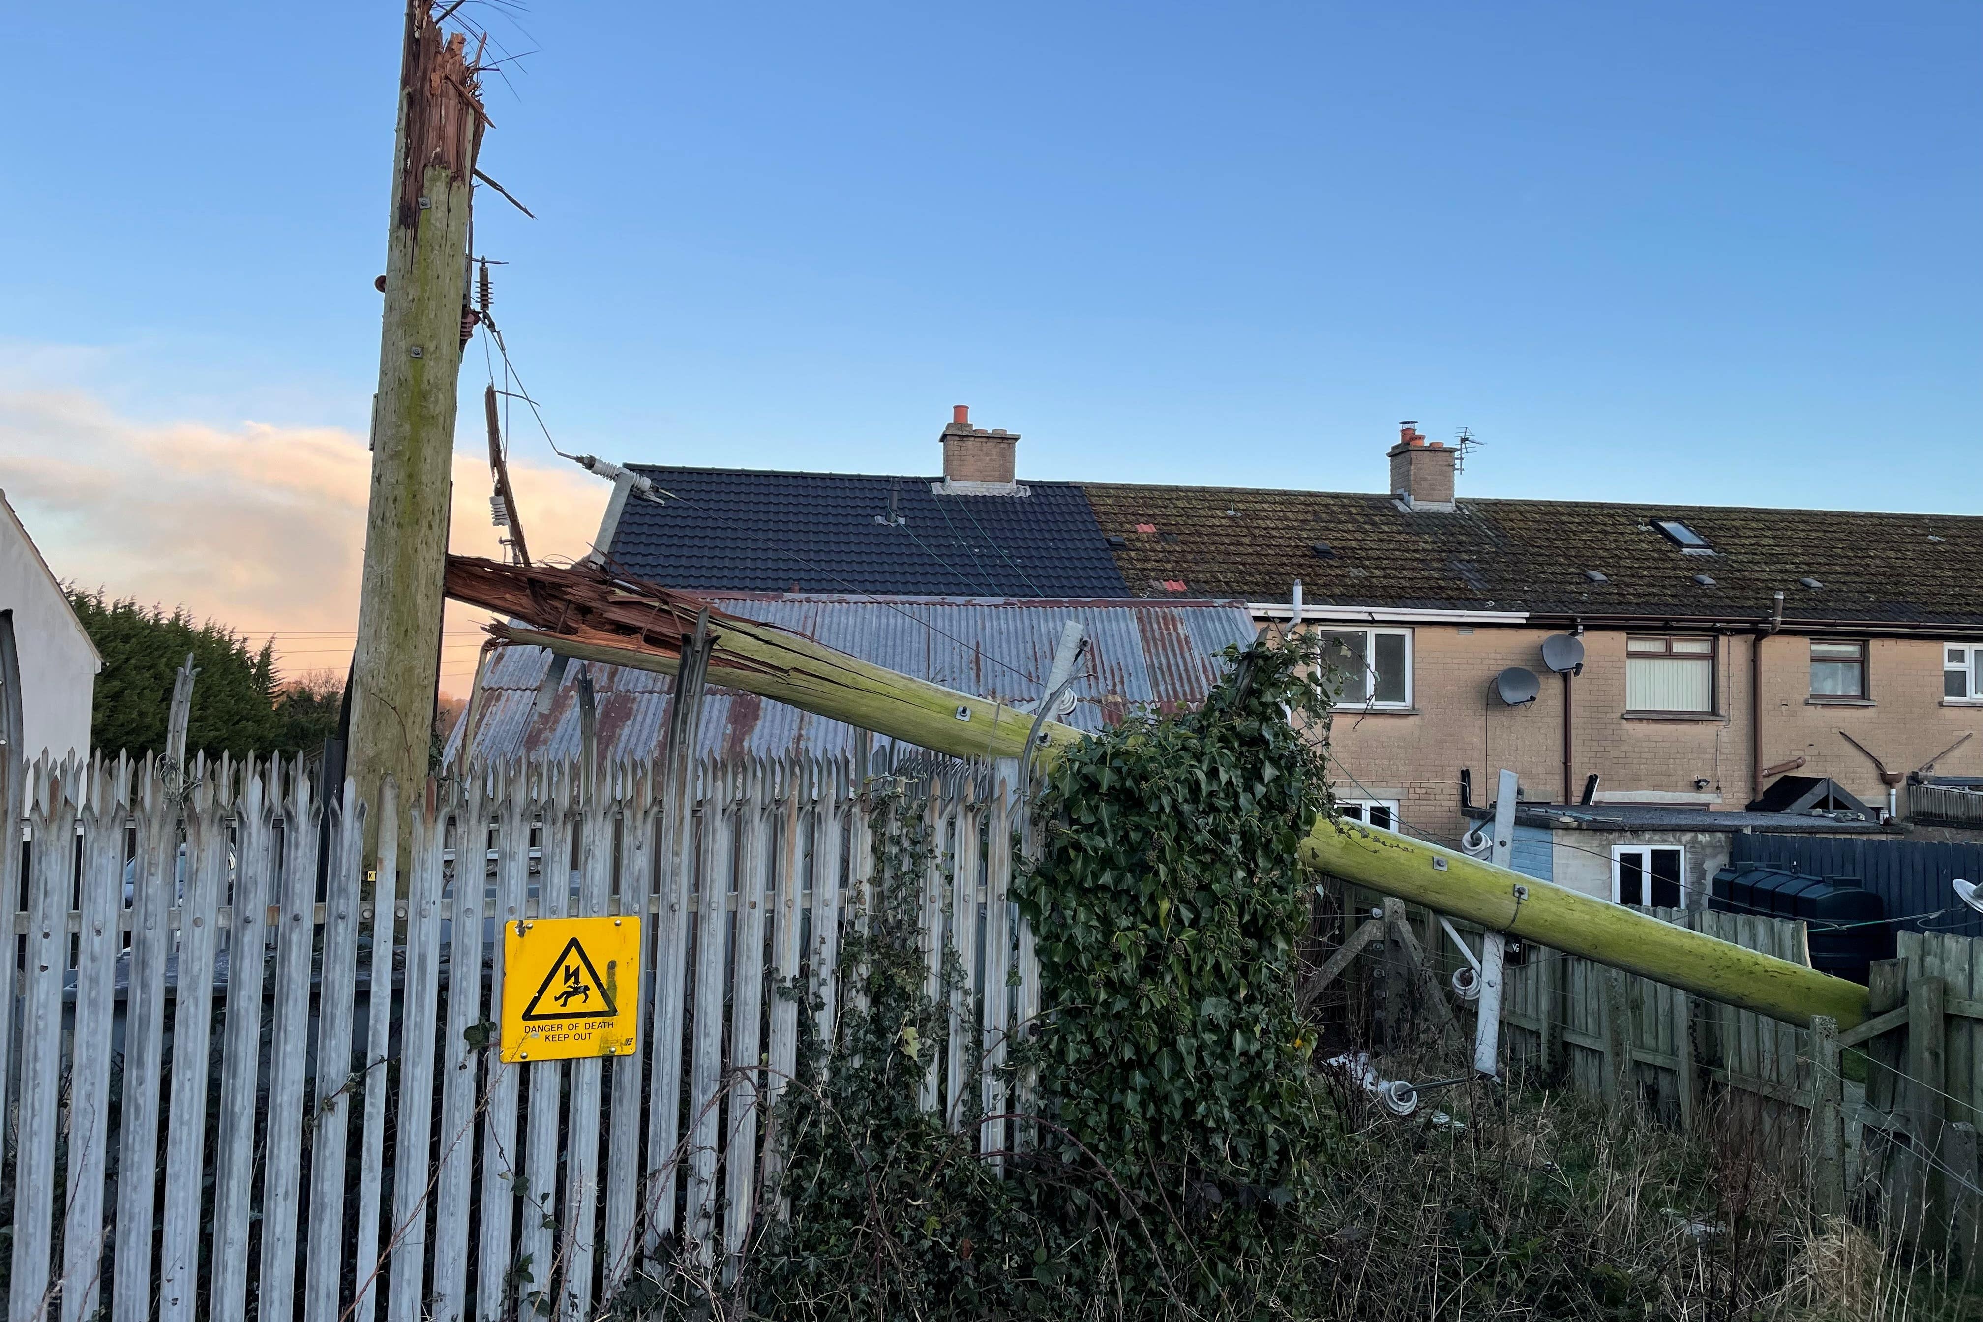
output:
[[[1475,799],[1493,795],[1501,767],[1521,777],[1527,795],[1575,799],[1584,777],[1602,777],[1604,793],[1660,791],[1721,795],[1719,809],[1751,799],[1749,648],[1751,636],[1719,638],[1715,654],[1715,719],[1626,717],[1626,632],[1584,634],[1584,672],[1575,686],[1573,783],[1563,783],[1563,680],[1543,666],[1547,628],[1454,624],[1412,628],[1414,712],[1344,710],[1335,717],[1337,793],[1400,799],[1406,823],[1458,836],[1459,769],[1473,773]],[[1810,652],[1803,636],[1763,642],[1763,763],[1803,753],[1797,775],[1830,775],[1878,807],[1886,787],[1872,763],[1846,743],[1850,729],[1880,753],[1890,769],[1912,771],[1963,731],[1979,731],[1937,769],[1983,775],[1983,708],[1941,706],[1941,644],[1933,640],[1874,640],[1870,678],[1874,706],[1810,706]],[[1495,672],[1527,666],[1543,678],[1535,704],[1509,708],[1489,694]]]

